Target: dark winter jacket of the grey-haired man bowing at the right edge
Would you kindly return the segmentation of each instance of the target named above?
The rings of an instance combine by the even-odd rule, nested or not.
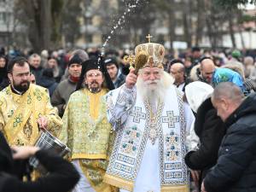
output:
[[[218,162],[207,173],[207,192],[256,191],[256,94],[241,103],[226,119],[226,135],[218,151]]]

